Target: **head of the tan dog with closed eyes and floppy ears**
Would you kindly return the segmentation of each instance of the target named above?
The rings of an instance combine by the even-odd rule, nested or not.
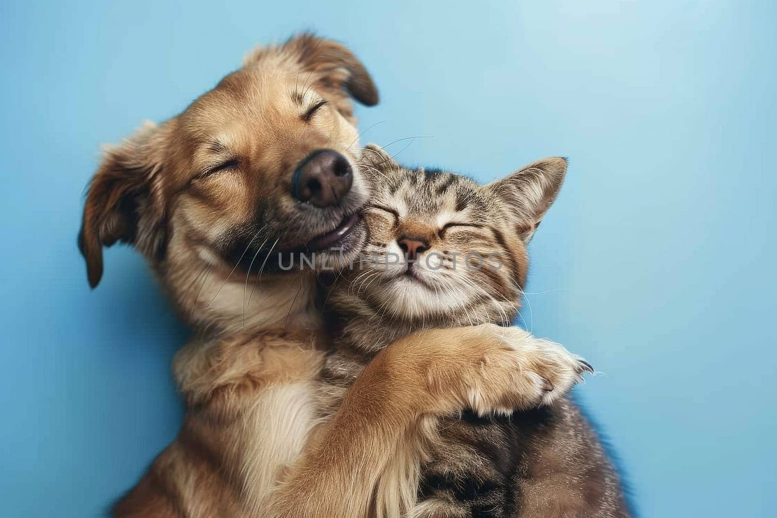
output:
[[[109,148],[79,237],[90,285],[103,274],[103,246],[124,242],[195,327],[310,318],[288,314],[285,286],[263,284],[269,303],[252,307],[234,274],[256,273],[250,263],[267,249],[315,249],[350,230],[367,198],[351,99],[378,103],[364,65],[340,43],[302,34],[253,51],[183,113]]]

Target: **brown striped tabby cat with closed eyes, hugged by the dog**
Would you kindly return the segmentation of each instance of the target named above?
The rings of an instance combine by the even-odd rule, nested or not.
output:
[[[334,339],[322,370],[324,415],[376,353],[409,333],[484,323],[525,333],[507,326],[520,308],[526,245],[566,174],[566,159],[545,158],[480,186],[405,168],[372,144],[363,157],[372,186],[368,243],[358,264],[329,280],[324,311]],[[583,370],[592,372],[580,363],[577,375]],[[540,408],[431,420],[386,468],[396,473],[395,502],[375,508],[428,517],[629,516],[596,433],[552,391],[571,383],[548,382],[555,399]]]

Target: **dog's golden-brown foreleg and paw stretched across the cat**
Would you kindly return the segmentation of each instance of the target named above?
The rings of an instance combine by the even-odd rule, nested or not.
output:
[[[566,392],[584,370],[590,366],[579,357],[517,328],[432,329],[399,339],[354,381],[264,516],[361,518],[382,471],[424,417],[531,408]]]

